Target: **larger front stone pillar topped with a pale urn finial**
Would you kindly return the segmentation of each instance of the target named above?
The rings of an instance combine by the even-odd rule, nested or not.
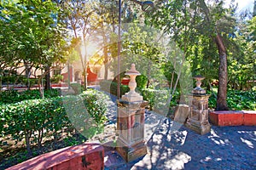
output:
[[[143,96],[135,92],[137,82],[135,78],[140,75],[135,69],[135,65],[131,65],[131,70],[125,75],[130,76],[129,88],[130,92],[122,96],[118,103],[118,140],[117,151],[125,161],[133,161],[147,154],[147,146],[144,141],[144,119],[145,107],[147,101],[143,100]]]

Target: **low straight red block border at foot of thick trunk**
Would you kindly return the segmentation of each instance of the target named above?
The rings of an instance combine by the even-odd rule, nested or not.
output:
[[[209,111],[209,119],[219,127],[256,126],[256,111]]]

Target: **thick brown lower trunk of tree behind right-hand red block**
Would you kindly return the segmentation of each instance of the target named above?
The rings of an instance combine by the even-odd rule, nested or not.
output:
[[[218,95],[217,95],[216,111],[228,111],[229,108],[227,105],[227,84],[228,84],[227,53],[224,47],[224,42],[219,34],[216,37],[216,43],[218,45],[218,54],[219,54]]]

